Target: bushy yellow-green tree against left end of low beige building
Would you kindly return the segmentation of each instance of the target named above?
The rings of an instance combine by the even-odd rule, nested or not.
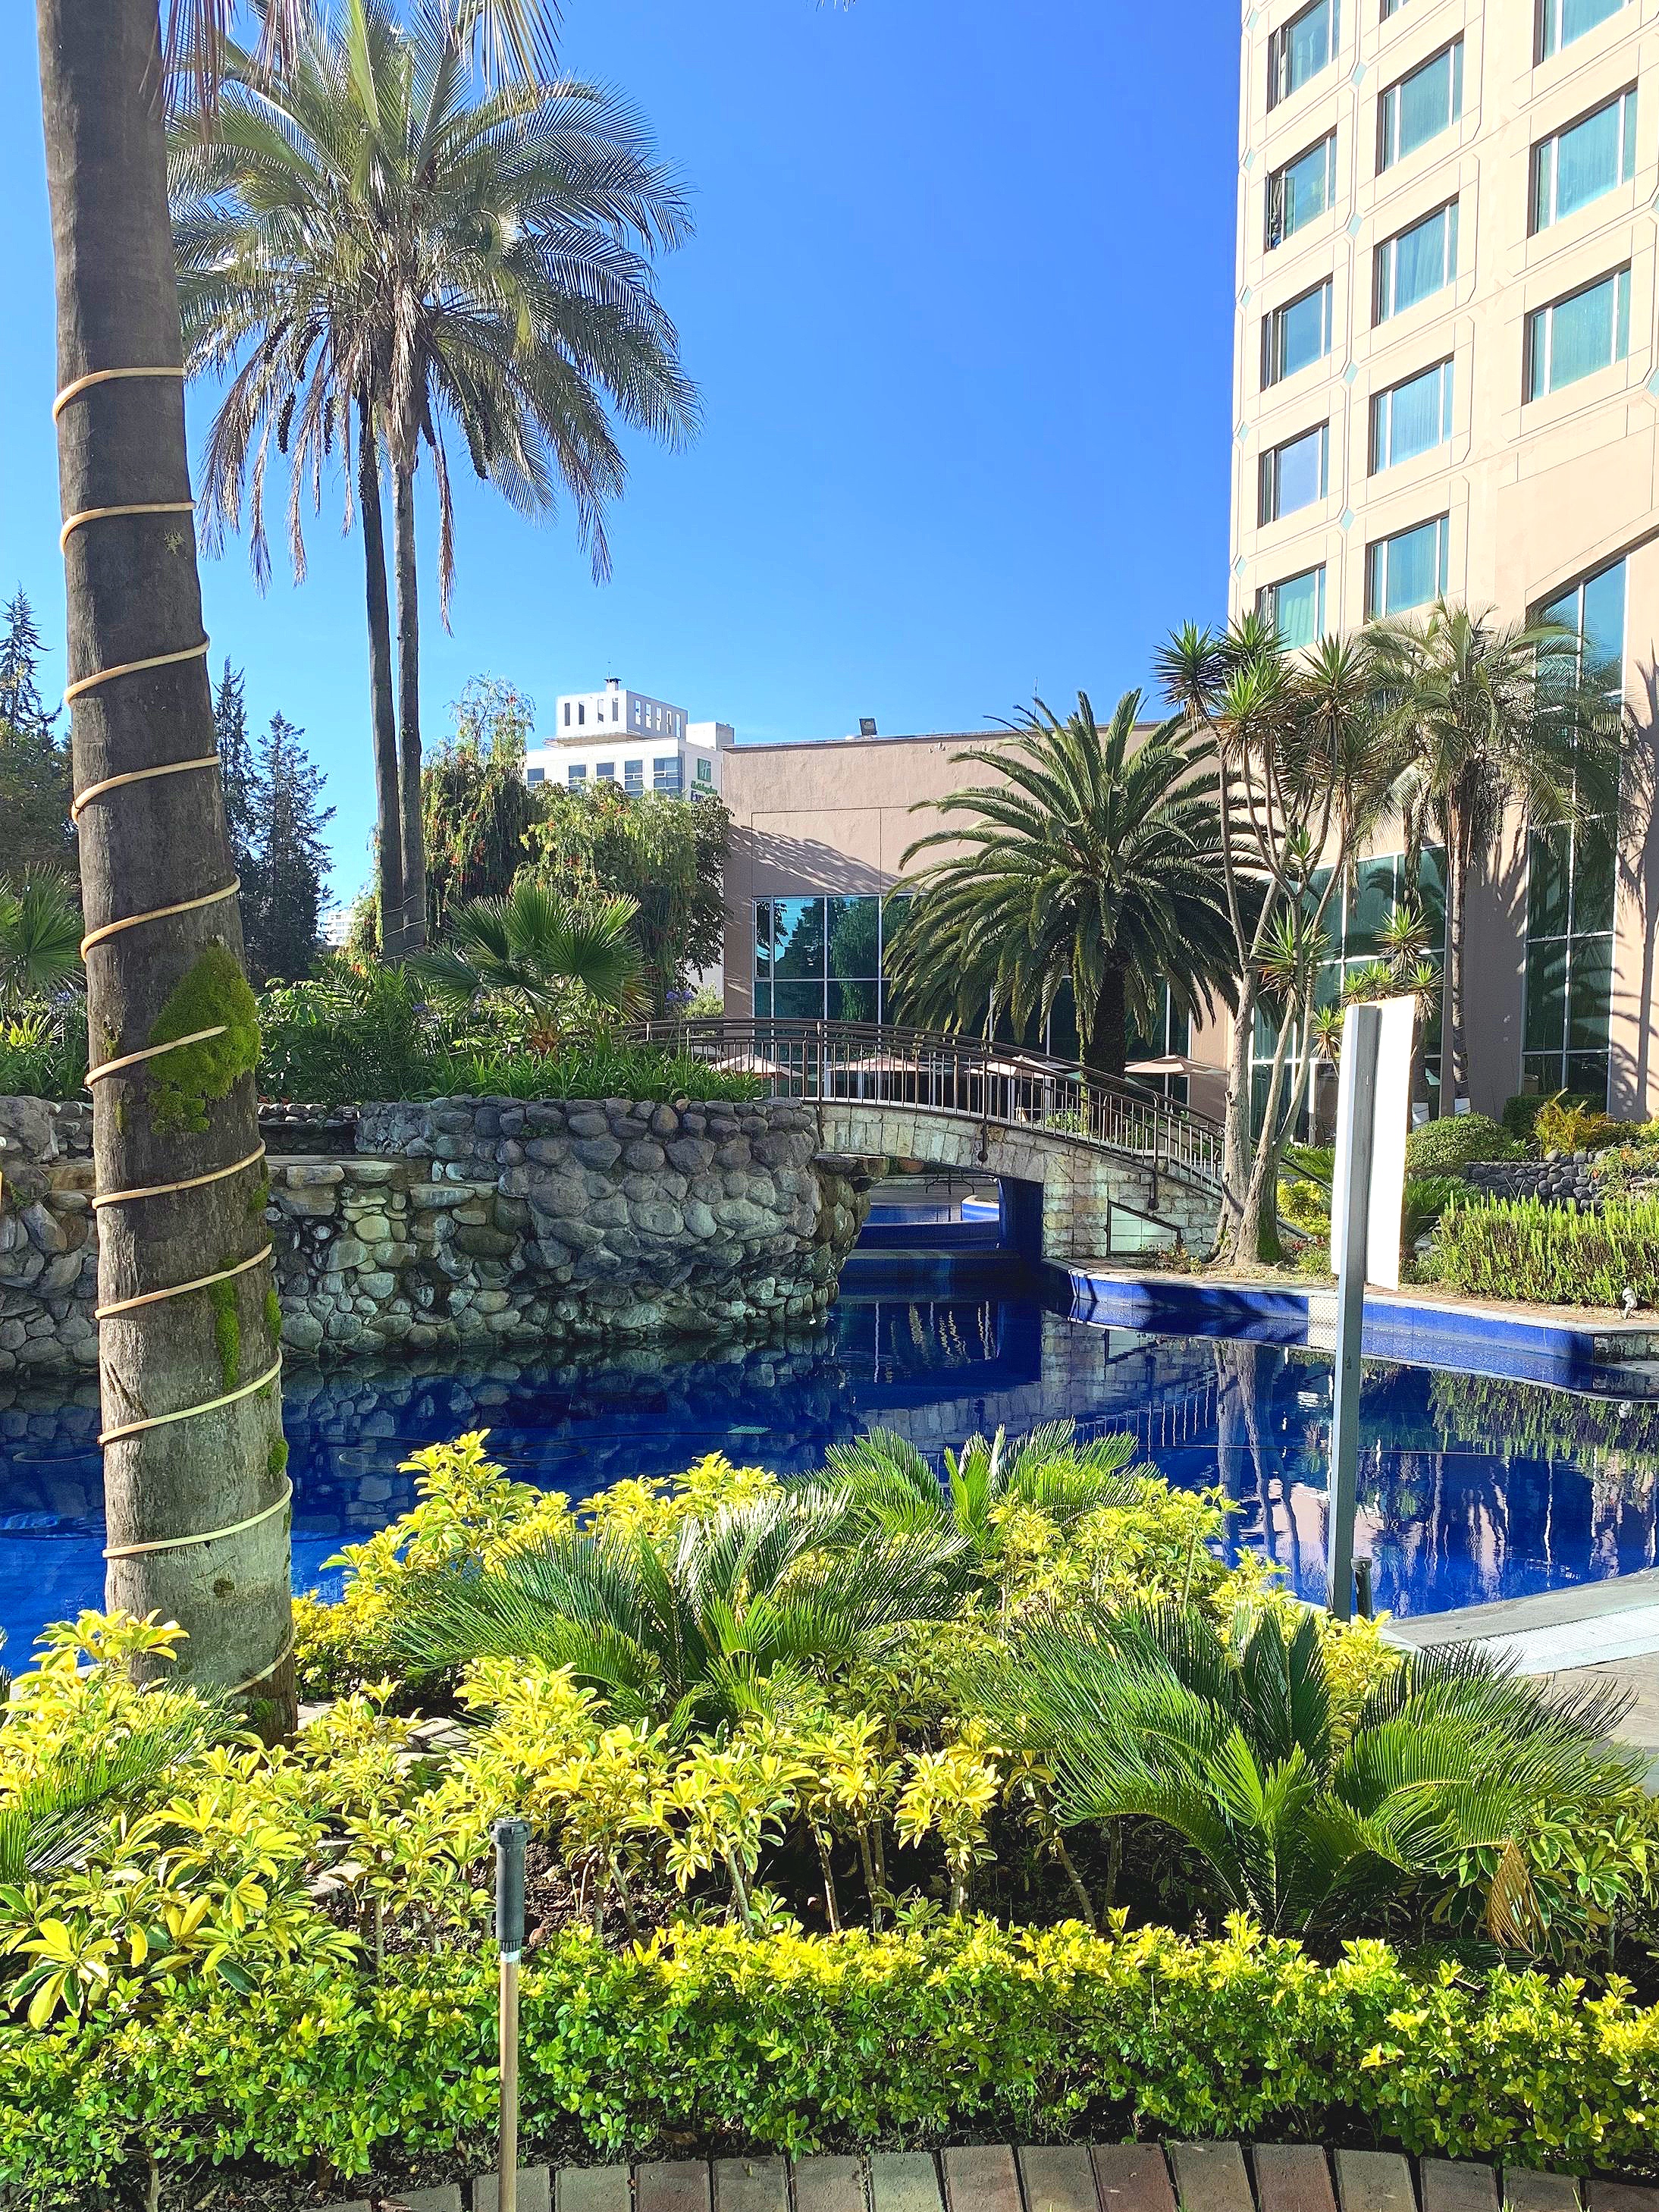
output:
[[[555,790],[529,832],[538,880],[566,894],[633,898],[655,1011],[688,971],[726,951],[726,847],[719,799],[628,794],[613,783]]]

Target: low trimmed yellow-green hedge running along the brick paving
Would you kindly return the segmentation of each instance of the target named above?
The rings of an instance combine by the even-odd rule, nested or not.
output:
[[[1088,1936],[964,1920],[920,1933],[624,1953],[571,1933],[524,1969],[529,2143],[639,2152],[672,2128],[810,2150],[949,2135],[1371,2135],[1409,2150],[1659,2172],[1659,2008],[1628,1984],[1334,1964],[1245,1924]],[[0,2181],[82,2203],[128,2159],[254,2154],[347,2177],[478,2150],[495,2106],[484,1958],[380,1984],[276,1978],[150,2020],[0,2031]]]

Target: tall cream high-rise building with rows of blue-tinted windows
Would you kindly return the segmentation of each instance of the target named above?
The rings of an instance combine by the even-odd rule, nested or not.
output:
[[[1239,153],[1232,613],[1444,593],[1619,672],[1628,818],[1515,810],[1471,900],[1473,1104],[1655,1113],[1659,0],[1245,4]]]

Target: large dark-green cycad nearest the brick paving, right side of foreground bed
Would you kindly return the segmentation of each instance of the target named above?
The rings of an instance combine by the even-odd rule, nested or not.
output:
[[[1219,1905],[1305,1933],[1458,1854],[1500,1851],[1486,1924],[1524,1940],[1517,1838],[1544,1805],[1637,1787],[1608,1745],[1617,1701],[1517,1681],[1478,1648],[1411,1652],[1334,1725],[1318,1617],[1274,1608],[1223,1641],[1192,1608],[1066,1615],[1020,1639],[991,1686],[1004,1728],[1048,1761],[1066,1825],[1139,1816],[1206,1863]]]

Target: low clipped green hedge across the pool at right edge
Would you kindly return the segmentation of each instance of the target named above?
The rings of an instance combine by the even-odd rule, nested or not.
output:
[[[1542,1199],[1449,1206],[1436,1234],[1453,1290],[1535,1305],[1659,1305],[1659,1199],[1608,1201],[1599,1214]]]

